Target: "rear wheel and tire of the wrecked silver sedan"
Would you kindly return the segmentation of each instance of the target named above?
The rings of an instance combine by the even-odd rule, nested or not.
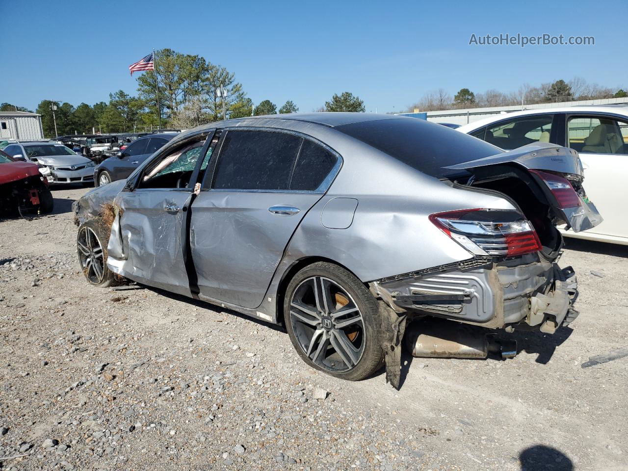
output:
[[[327,294],[319,296],[323,301],[317,298],[314,306],[315,291]],[[325,301],[326,297],[331,302]],[[295,309],[293,302],[306,310]],[[322,310],[317,308],[321,305],[325,306]],[[366,286],[344,268],[317,262],[301,269],[288,284],[283,309],[290,340],[311,367],[349,381],[365,379],[381,367],[379,306]],[[347,314],[342,314],[344,311]],[[357,317],[361,318],[355,320]],[[341,327],[344,324],[347,327]]]

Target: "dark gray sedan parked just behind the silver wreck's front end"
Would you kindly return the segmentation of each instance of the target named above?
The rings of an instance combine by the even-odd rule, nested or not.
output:
[[[144,138],[136,139],[115,156],[102,161],[94,169],[95,185],[102,187],[112,181],[123,180],[176,135],[149,134]]]

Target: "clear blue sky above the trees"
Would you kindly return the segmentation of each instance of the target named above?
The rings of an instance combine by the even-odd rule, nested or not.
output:
[[[0,0],[0,102],[78,105],[136,92],[127,67],[153,48],[227,67],[254,103],[301,112],[334,93],[401,111],[430,90],[517,90],[574,76],[628,88],[628,1]],[[595,36],[595,46],[470,46],[472,33]]]

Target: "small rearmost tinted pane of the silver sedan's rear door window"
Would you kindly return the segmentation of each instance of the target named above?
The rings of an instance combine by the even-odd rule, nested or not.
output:
[[[291,190],[316,190],[335,165],[330,151],[305,139],[290,180]]]

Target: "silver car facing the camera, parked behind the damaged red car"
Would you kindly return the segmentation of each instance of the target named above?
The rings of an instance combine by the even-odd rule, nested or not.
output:
[[[22,142],[10,144],[4,151],[13,158],[39,165],[48,183],[94,182],[94,162],[63,144]]]

